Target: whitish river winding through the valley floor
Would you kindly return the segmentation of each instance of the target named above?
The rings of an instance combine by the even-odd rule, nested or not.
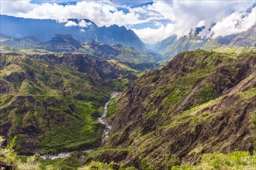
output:
[[[112,96],[111,98],[109,99],[109,101],[105,104],[104,106],[104,112],[102,114],[102,117],[99,117],[98,118],[98,121],[103,124],[105,126],[104,130],[103,130],[103,139],[102,139],[102,143],[106,140],[106,138],[109,138],[109,131],[111,130],[111,126],[108,124],[108,122],[105,120],[105,117],[106,117],[106,114],[108,113],[108,106],[109,106],[109,103],[110,101],[113,99],[113,98],[116,98],[116,95],[117,93],[112,93]],[[85,152],[85,153],[90,153],[91,151],[93,151],[93,149],[88,149],[88,150],[85,150],[85,151],[82,151],[82,152]],[[71,152],[66,152],[66,153],[61,153],[61,154],[58,154],[58,155],[42,155],[40,156],[40,158],[43,158],[43,159],[56,159],[56,158],[67,158],[71,155]]]

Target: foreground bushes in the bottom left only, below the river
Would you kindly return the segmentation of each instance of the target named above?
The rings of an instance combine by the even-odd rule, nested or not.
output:
[[[68,158],[57,158],[54,160],[38,158],[36,156],[17,156],[12,149],[16,145],[16,138],[12,140],[7,148],[2,148],[4,139],[0,136],[0,165],[9,166],[17,170],[70,170],[70,169],[119,169],[119,170],[134,170],[137,168],[129,167],[122,168],[121,165],[111,162],[109,164],[103,162],[90,162],[88,165],[82,167],[79,157],[82,156],[79,152],[72,152]]]

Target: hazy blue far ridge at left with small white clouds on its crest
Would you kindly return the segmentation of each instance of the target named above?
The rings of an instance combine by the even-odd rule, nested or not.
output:
[[[132,31],[124,26],[97,26],[88,19],[67,19],[57,22],[53,19],[24,19],[9,15],[0,15],[1,32],[6,36],[22,38],[34,36],[40,41],[49,41],[57,34],[70,34],[75,39],[91,42],[92,39],[107,44],[122,44],[135,49],[144,50],[144,42]]]

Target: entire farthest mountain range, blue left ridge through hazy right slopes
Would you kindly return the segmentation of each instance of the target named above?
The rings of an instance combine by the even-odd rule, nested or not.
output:
[[[254,39],[256,26],[245,32],[207,39],[199,36],[203,28],[198,28],[188,36],[170,36],[161,42],[146,46],[132,30],[127,30],[124,26],[99,27],[88,19],[56,21],[51,19],[24,19],[8,15],[0,15],[0,17],[2,22],[0,33],[2,37],[11,37],[7,44],[15,46],[19,42],[19,44],[24,44],[26,48],[40,46],[43,49],[54,50],[51,49],[54,48],[52,46],[57,46],[54,42],[62,41],[62,46],[67,41],[71,41],[71,45],[68,45],[71,47],[65,50],[78,51],[81,46],[74,46],[78,44],[74,42],[74,39],[80,42],[92,42],[92,40],[95,40],[109,45],[121,44],[134,49],[161,53],[164,55],[164,60],[169,60],[184,50],[216,49],[220,46],[255,46],[256,44]],[[40,30],[40,34],[37,32],[38,30]],[[60,35],[70,36],[65,38]],[[74,37],[74,39],[71,37]]]

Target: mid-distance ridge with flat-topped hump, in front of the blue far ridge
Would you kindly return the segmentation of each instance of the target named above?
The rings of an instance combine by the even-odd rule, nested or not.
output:
[[[119,63],[134,70],[147,70],[157,66],[162,56],[157,53],[141,52],[133,47],[122,46],[120,44],[104,44],[101,42],[80,42],[71,35],[57,34],[50,41],[40,42],[33,36],[23,38],[13,38],[0,35],[1,53],[34,51],[41,53],[80,53],[92,54],[92,58],[100,60],[115,59]]]

